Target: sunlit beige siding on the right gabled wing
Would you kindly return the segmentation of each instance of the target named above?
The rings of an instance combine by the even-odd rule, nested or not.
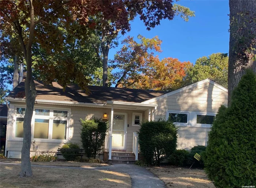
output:
[[[222,104],[227,105],[227,92],[211,83],[204,83],[153,103],[158,104],[155,120],[165,120],[166,110],[216,113]],[[207,145],[209,131],[209,128],[179,127],[178,148]]]

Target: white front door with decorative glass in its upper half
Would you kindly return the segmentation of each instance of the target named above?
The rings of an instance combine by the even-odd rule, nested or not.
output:
[[[125,148],[125,115],[114,114],[113,117],[113,130],[112,130],[112,148],[124,149]]]

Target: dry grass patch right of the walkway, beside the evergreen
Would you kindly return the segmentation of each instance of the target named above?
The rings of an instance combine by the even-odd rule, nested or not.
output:
[[[167,187],[196,187],[196,188],[214,188],[214,185],[208,181],[203,169],[188,169],[178,167],[150,167],[151,172],[157,175]]]

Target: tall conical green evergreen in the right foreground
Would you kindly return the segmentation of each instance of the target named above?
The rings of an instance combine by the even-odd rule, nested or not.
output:
[[[217,188],[256,185],[256,76],[247,71],[208,134],[205,170]]]

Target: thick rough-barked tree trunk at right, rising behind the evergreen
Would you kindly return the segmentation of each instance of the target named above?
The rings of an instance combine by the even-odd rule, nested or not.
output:
[[[256,0],[229,0],[230,9],[230,39],[229,39],[229,70],[228,70],[228,105],[231,102],[231,94],[237,87],[242,75],[246,69],[252,69],[256,72],[256,62],[251,58],[244,58],[245,50],[240,50],[243,44],[238,45],[238,40],[245,39],[247,46],[253,44],[249,39],[249,34],[256,36],[256,21],[249,21],[256,18]],[[243,13],[241,15],[241,13]],[[248,20],[245,21],[245,20]],[[237,21],[237,22],[236,22]],[[244,25],[243,25],[244,24]],[[252,54],[255,51],[252,51]]]

